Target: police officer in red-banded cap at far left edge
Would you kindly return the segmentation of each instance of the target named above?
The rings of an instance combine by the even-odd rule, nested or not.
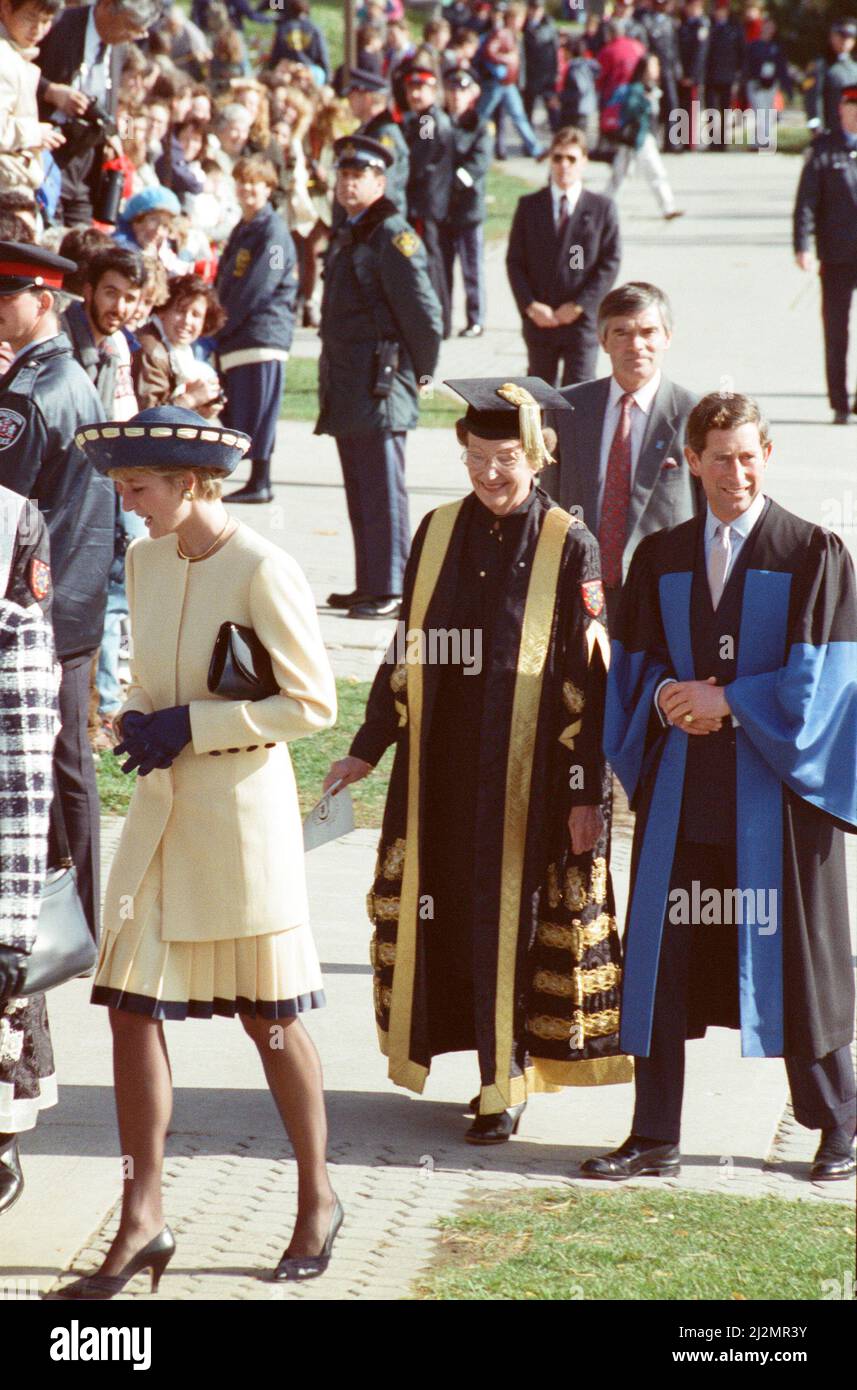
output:
[[[31,498],[50,532],[53,624],[63,666],[54,785],[96,935],[99,792],[86,730],[89,670],[101,641],[113,562],[114,496],[74,442],[82,425],[104,420],[94,386],[58,331],[56,295],[76,268],[40,246],[0,242],[0,339],[15,354],[0,381],[0,484]],[[29,588],[38,600],[51,580],[44,563],[31,556]],[[57,847],[51,831],[51,863]]]

